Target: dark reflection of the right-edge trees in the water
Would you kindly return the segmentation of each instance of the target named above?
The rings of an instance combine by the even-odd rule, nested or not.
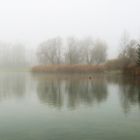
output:
[[[120,103],[125,113],[128,113],[134,105],[140,106],[140,79],[131,77],[109,77],[108,85],[118,85]]]

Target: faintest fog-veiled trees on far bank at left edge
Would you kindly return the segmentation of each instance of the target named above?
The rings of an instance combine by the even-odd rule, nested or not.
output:
[[[19,43],[0,42],[0,68],[25,67],[27,65],[25,46]]]

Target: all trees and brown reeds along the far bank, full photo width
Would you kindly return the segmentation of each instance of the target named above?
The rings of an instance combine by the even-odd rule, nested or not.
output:
[[[122,34],[115,58],[103,39],[61,37],[47,39],[37,48],[0,42],[0,70],[48,73],[114,73],[140,75],[140,42]]]

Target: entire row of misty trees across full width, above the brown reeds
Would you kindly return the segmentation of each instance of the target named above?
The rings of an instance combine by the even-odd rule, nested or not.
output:
[[[111,46],[102,39],[55,37],[41,42],[36,50],[31,50],[24,44],[1,42],[0,68],[50,64],[105,64],[108,69],[120,69],[140,64],[139,40],[132,39],[127,33],[123,33],[118,44],[118,56],[109,60],[107,53]]]

